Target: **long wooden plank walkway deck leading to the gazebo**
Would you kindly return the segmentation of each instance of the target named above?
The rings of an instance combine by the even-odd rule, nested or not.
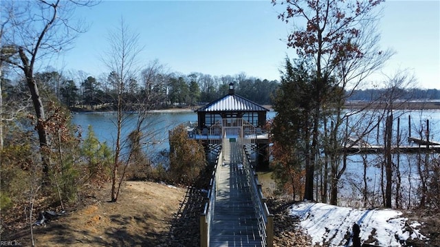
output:
[[[263,246],[250,184],[243,171],[241,147],[237,142],[230,142],[228,156],[217,168],[219,179],[210,246]]]

